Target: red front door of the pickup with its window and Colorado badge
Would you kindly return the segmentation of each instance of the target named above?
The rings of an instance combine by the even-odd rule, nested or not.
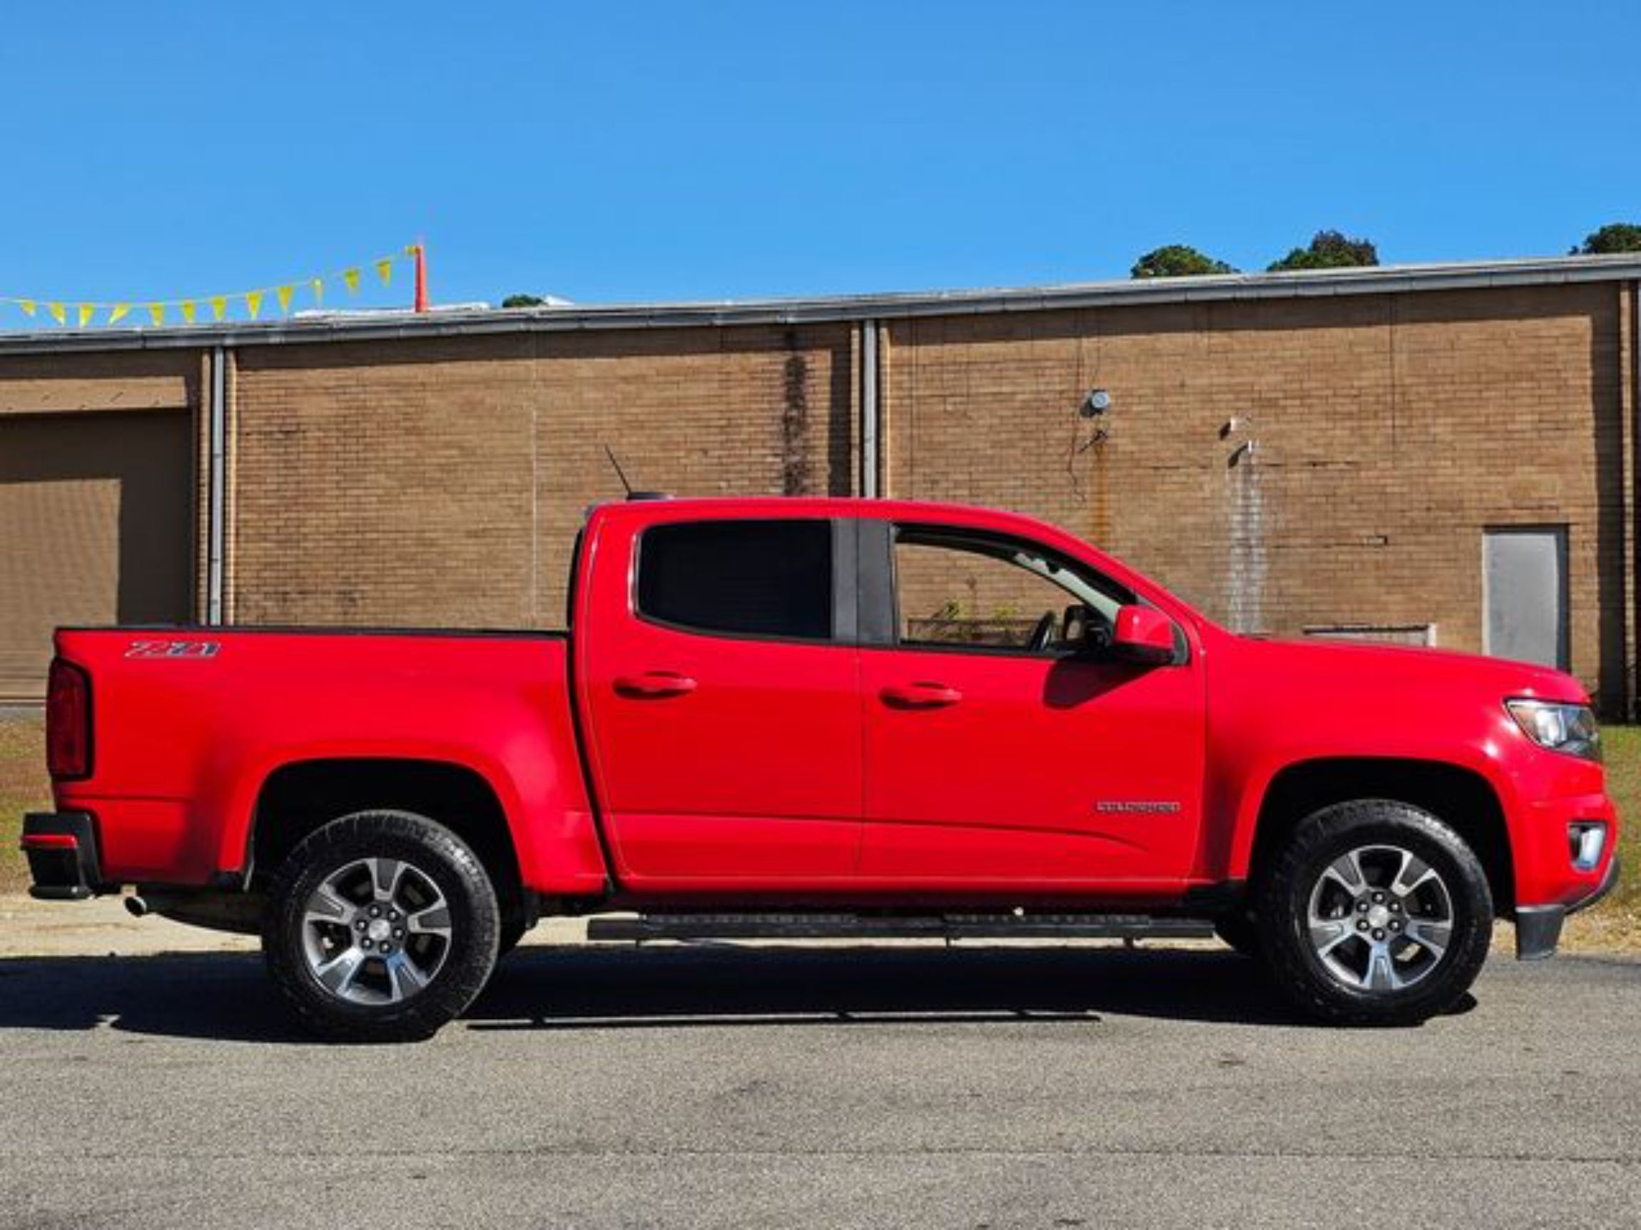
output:
[[[1075,651],[1068,607],[1109,620],[1134,595],[1026,540],[901,523],[881,549],[894,618],[893,643],[862,649],[862,876],[940,892],[1177,889],[1204,738],[1183,635],[1172,666]]]

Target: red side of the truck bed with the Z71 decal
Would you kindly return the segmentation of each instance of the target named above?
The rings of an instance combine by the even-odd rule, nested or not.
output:
[[[97,690],[92,772],[59,782],[57,807],[103,820],[108,882],[240,882],[281,768],[417,758],[476,774],[510,815],[568,830],[568,858],[538,879],[522,866],[527,884],[602,884],[566,633],[64,628],[56,645]]]

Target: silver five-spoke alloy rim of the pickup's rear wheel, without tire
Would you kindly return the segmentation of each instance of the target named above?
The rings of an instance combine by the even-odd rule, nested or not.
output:
[[[302,910],[309,973],[350,1004],[400,1004],[450,956],[450,904],[412,863],[363,858],[327,876]]]

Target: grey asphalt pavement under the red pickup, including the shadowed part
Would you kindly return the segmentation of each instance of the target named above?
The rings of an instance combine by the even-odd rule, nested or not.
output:
[[[1223,950],[520,950],[417,1046],[259,958],[0,959],[0,1225],[1641,1225],[1641,963],[1416,1030]]]

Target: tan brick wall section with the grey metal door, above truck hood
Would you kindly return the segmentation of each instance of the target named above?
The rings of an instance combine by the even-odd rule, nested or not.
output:
[[[1620,305],[1585,285],[896,321],[888,492],[1057,522],[1244,630],[1434,623],[1467,649],[1483,526],[1567,525],[1572,667],[1618,697]],[[1080,420],[1093,387],[1111,410]]]

